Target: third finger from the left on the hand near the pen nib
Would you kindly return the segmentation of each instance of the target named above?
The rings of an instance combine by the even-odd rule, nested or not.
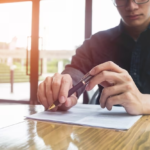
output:
[[[62,75],[59,73],[56,73],[52,80],[52,93],[53,93],[53,100],[56,101],[58,99],[58,94],[61,86],[61,79]]]

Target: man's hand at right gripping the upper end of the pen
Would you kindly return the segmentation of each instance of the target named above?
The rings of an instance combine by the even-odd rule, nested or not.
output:
[[[104,87],[100,98],[102,108],[111,110],[113,105],[120,104],[129,114],[144,114],[145,96],[140,93],[126,70],[113,62],[106,62],[94,67],[90,74],[95,77],[89,82],[86,90],[91,90],[97,84]]]

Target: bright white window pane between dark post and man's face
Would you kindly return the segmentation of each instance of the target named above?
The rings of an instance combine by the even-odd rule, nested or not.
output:
[[[111,0],[93,0],[92,34],[115,27],[120,15]]]

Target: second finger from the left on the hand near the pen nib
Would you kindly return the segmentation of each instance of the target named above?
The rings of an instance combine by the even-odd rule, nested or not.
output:
[[[47,77],[45,79],[45,95],[46,95],[46,99],[48,102],[48,105],[51,106],[54,102],[53,100],[53,93],[52,93],[52,89],[51,89],[51,84],[52,84],[52,78],[51,77]]]

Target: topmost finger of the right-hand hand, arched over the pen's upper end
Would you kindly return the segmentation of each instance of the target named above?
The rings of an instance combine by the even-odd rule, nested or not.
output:
[[[91,71],[90,74],[91,75],[96,75],[102,71],[113,71],[113,72],[117,72],[117,73],[122,73],[125,70],[120,68],[118,65],[116,65],[115,63],[113,63],[112,61],[108,61],[105,62],[103,64],[97,65],[96,67],[94,67]]]

